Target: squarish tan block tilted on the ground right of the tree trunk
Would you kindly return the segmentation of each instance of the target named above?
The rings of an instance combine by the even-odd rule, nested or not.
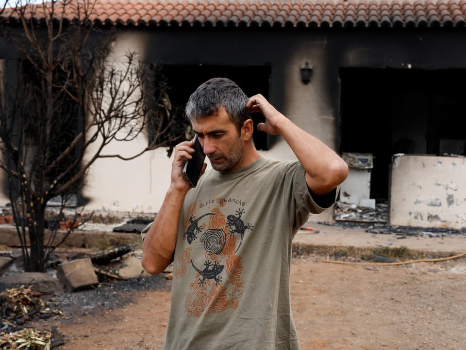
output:
[[[99,283],[94,266],[88,257],[58,265],[57,277],[67,291],[85,289]]]

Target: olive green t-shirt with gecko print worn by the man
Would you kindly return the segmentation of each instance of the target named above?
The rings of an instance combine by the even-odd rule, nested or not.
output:
[[[260,158],[228,172],[210,169],[188,191],[164,349],[300,349],[290,305],[292,239],[309,212],[336,196],[319,198],[326,203],[319,207],[304,174],[298,161]]]

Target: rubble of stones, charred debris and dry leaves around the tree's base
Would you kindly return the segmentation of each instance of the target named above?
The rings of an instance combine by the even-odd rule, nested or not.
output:
[[[2,253],[6,256],[5,268],[0,272],[0,350],[54,349],[65,344],[55,327],[47,331],[34,329],[31,321],[50,318],[57,324],[69,319],[56,309],[58,305],[67,314],[79,310],[85,315],[89,309],[102,305],[112,308],[128,303],[131,293],[124,294],[124,298],[116,297],[116,293],[140,290],[141,285],[159,289],[167,278],[149,276],[141,266],[142,252],[134,252],[132,246],[94,253],[57,252],[50,255],[50,261],[55,263],[47,264],[45,272],[24,272],[20,253]]]

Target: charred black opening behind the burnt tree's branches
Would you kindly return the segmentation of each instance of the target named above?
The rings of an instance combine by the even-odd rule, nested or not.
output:
[[[67,147],[83,130],[83,113],[76,102],[64,91],[73,93],[69,76],[71,70],[57,65],[50,78],[55,86],[47,91],[46,77],[29,60],[20,63],[19,100],[24,150],[29,152],[30,171],[41,172],[52,183],[58,177],[66,182],[81,169],[77,162],[83,151],[82,144],[67,152]],[[49,105],[49,107],[47,107]],[[53,165],[49,171],[44,170]],[[33,169],[41,166],[43,169]],[[82,182],[72,185],[65,194],[79,193]]]

